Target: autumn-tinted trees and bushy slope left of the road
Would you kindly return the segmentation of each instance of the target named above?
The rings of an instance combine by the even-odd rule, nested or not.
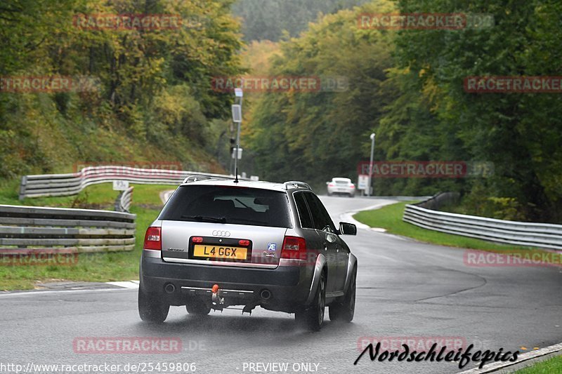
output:
[[[232,1],[6,0],[0,76],[89,76],[97,90],[0,93],[0,178],[84,161],[183,161],[221,171],[209,123],[228,116],[216,75],[244,72]],[[178,29],[81,29],[77,15],[173,14]],[[142,152],[139,150],[142,149]]]

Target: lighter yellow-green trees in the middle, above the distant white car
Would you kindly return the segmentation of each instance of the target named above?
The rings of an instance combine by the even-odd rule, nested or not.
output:
[[[392,10],[389,2],[381,6]],[[358,146],[388,103],[383,90],[391,66],[388,34],[357,27],[360,11],[327,15],[298,39],[280,45],[271,76],[344,76],[344,92],[289,91],[256,100],[249,142],[264,179],[306,178],[325,182],[334,175],[353,177],[365,149]]]

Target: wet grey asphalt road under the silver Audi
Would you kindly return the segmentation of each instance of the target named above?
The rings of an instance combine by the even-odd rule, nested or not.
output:
[[[388,203],[322,200],[336,220],[346,211]],[[351,324],[327,320],[320,332],[309,333],[296,328],[292,315],[260,308],[251,316],[226,310],[196,319],[185,308],[172,307],[166,323],[152,326],[138,318],[134,289],[10,293],[0,295],[0,373],[10,372],[1,366],[7,363],[140,362],[196,363],[195,373],[259,373],[256,366],[249,371],[250,363],[277,362],[289,363],[283,373],[456,373],[461,371],[456,363],[371,362],[368,356],[357,366],[353,361],[360,353],[358,343],[372,338],[421,342],[423,337],[449,337],[473,343],[476,349],[504,352],[562,341],[558,268],[467,267],[463,250],[367,229],[346,241],[359,261]],[[74,340],[84,337],[178,338],[183,351],[74,352]],[[300,363],[312,363],[315,371],[293,370]],[[473,367],[469,363],[464,370]]]

